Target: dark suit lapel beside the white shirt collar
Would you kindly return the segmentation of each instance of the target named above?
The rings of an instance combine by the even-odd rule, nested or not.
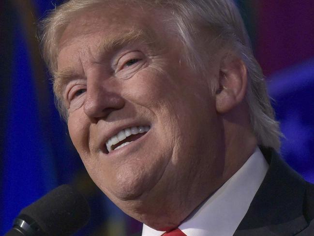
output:
[[[271,149],[261,148],[269,170],[234,236],[293,236],[303,217],[305,181]]]

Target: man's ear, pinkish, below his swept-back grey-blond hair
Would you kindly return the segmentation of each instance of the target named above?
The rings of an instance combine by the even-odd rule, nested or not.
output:
[[[247,89],[247,69],[233,53],[226,54],[220,64],[219,89],[216,91],[216,110],[226,113],[241,103]]]

